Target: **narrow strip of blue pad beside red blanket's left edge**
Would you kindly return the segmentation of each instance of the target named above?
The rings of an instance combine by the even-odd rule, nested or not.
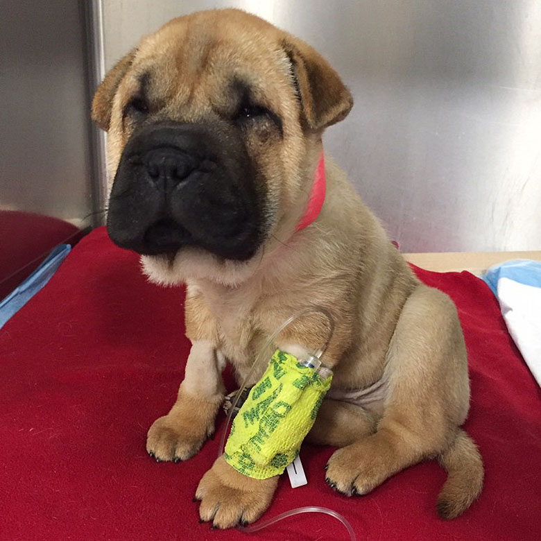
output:
[[[59,244],[56,248],[53,248],[42,264],[0,302],[0,329],[17,310],[23,307],[49,282],[51,276],[56,272],[70,250],[71,246],[69,244]]]

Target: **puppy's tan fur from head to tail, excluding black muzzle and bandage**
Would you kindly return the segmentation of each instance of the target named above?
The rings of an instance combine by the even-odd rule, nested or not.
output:
[[[208,359],[190,355],[187,373],[209,366],[209,380],[215,382],[219,359],[227,359],[243,379],[278,325],[304,307],[323,306],[336,323],[323,359],[334,368],[333,388],[385,383],[384,398],[362,409],[324,402],[310,438],[341,447],[329,461],[328,483],[345,494],[366,494],[404,467],[439,457],[449,472],[440,514],[454,517],[465,510],[479,495],[483,465],[470,438],[457,431],[467,415],[470,389],[454,304],[420,284],[343,171],[328,158],[323,210],[315,223],[295,232],[313,182],[323,128],[345,117],[352,106],[334,69],[307,44],[259,18],[216,10],[173,19],[141,40],[120,77],[122,70],[115,68],[105,78],[93,105],[94,118],[108,124],[111,175],[133,129],[123,123],[122,109],[145,71],[152,73],[148,92],[153,119],[212,121],[216,114],[227,116],[234,106],[227,84],[235,75],[249,80],[257,100],[283,121],[282,137],[266,123],[246,136],[271,209],[266,216],[269,234],[255,257],[224,261],[187,248],[173,261],[141,258],[151,280],[187,283],[187,336],[194,347],[209,343]],[[327,332],[323,318],[305,316],[278,336],[275,345],[314,349]],[[249,383],[263,370],[258,367]],[[147,449],[157,458],[188,458],[212,431],[221,390],[212,383],[194,398],[188,389],[184,382],[169,415],[148,433]],[[219,458],[197,490],[200,516],[221,528],[240,519],[251,522],[268,506],[276,483],[275,478],[246,478]]]

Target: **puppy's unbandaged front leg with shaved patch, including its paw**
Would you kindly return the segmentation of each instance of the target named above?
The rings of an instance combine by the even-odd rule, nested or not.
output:
[[[210,341],[195,341],[186,363],[184,381],[171,411],[148,431],[146,450],[157,461],[185,461],[214,433],[214,419],[223,400],[221,370]]]

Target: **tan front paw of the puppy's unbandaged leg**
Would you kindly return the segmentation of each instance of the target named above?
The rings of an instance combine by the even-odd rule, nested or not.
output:
[[[171,411],[155,420],[148,430],[148,454],[157,462],[179,462],[194,456],[214,433],[219,403],[189,400],[181,395]]]

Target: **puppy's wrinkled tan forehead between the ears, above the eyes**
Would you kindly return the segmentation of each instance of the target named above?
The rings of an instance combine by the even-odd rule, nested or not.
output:
[[[275,28],[224,21],[184,21],[141,40],[130,70],[131,92],[176,108],[228,114],[250,101],[280,112],[291,94],[291,63]]]

